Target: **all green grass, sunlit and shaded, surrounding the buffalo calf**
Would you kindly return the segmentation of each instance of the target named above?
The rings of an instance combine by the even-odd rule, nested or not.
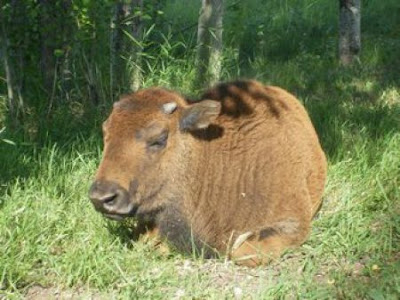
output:
[[[185,9],[171,3],[166,19],[176,14],[174,5]],[[0,299],[35,295],[36,299],[57,295],[78,299],[399,298],[400,44],[398,36],[394,38],[398,4],[365,3],[362,64],[342,69],[335,57],[336,32],[331,23],[335,10],[328,1],[270,1],[265,11],[277,13],[274,18],[265,16],[266,27],[257,3],[250,1],[244,16],[235,15],[235,6],[230,7],[227,40],[234,40],[235,18],[257,12],[259,17],[252,18],[249,22],[255,24],[250,25],[258,26],[271,44],[257,48],[243,64],[239,41],[227,43],[223,77],[252,77],[283,86],[309,111],[329,159],[325,201],[309,240],[254,270],[223,258],[165,255],[149,243],[133,241],[129,224],[105,220],[87,198],[101,156],[100,124],[108,106],[96,110],[80,102],[82,88],[74,101],[55,107],[51,119],[32,109],[23,130],[0,134]],[[196,16],[193,11],[185,10],[181,23],[174,19],[171,26],[190,25]],[[326,20],[322,11],[328,14]],[[301,12],[301,18],[296,17]],[[381,15],[388,24],[377,28],[373,24]],[[282,28],[285,35],[280,34]],[[185,38],[193,36],[182,33],[176,44],[168,39],[160,44],[161,54],[147,61],[144,86],[161,84],[194,93],[194,51],[182,50],[189,44]],[[296,47],[300,42],[295,41],[302,41],[302,46]],[[175,52],[181,56],[175,57]],[[3,116],[0,120],[4,123]]]

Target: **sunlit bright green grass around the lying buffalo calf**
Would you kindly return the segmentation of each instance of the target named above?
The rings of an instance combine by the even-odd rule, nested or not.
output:
[[[400,294],[400,133],[388,130],[375,140],[365,127],[356,131],[348,124],[340,130],[352,140],[352,151],[330,163],[325,204],[309,241],[257,270],[223,259],[164,256],[131,241],[124,225],[95,213],[86,196],[100,155],[94,138],[19,152],[30,174],[2,183],[2,293],[19,298],[39,285],[123,299],[180,293],[220,299],[234,297],[238,289],[266,299],[395,299]]]

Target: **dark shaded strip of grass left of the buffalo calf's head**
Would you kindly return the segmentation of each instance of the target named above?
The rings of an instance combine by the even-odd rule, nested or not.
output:
[[[80,146],[87,149],[89,140],[100,146],[103,115],[103,110],[76,115],[59,107],[47,119],[27,116],[17,130],[5,136],[15,145],[0,143],[0,190],[17,179],[38,176],[53,147],[62,157]]]

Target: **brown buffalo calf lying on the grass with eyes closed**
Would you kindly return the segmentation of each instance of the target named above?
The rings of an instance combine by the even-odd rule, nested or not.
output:
[[[114,104],[103,131],[90,199],[105,216],[136,217],[178,250],[249,266],[307,238],[326,159],[285,90],[236,81],[191,102],[144,89]]]

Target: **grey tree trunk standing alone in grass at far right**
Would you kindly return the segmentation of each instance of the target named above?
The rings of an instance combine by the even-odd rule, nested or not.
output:
[[[361,50],[361,0],[339,0],[339,58],[350,65]]]

